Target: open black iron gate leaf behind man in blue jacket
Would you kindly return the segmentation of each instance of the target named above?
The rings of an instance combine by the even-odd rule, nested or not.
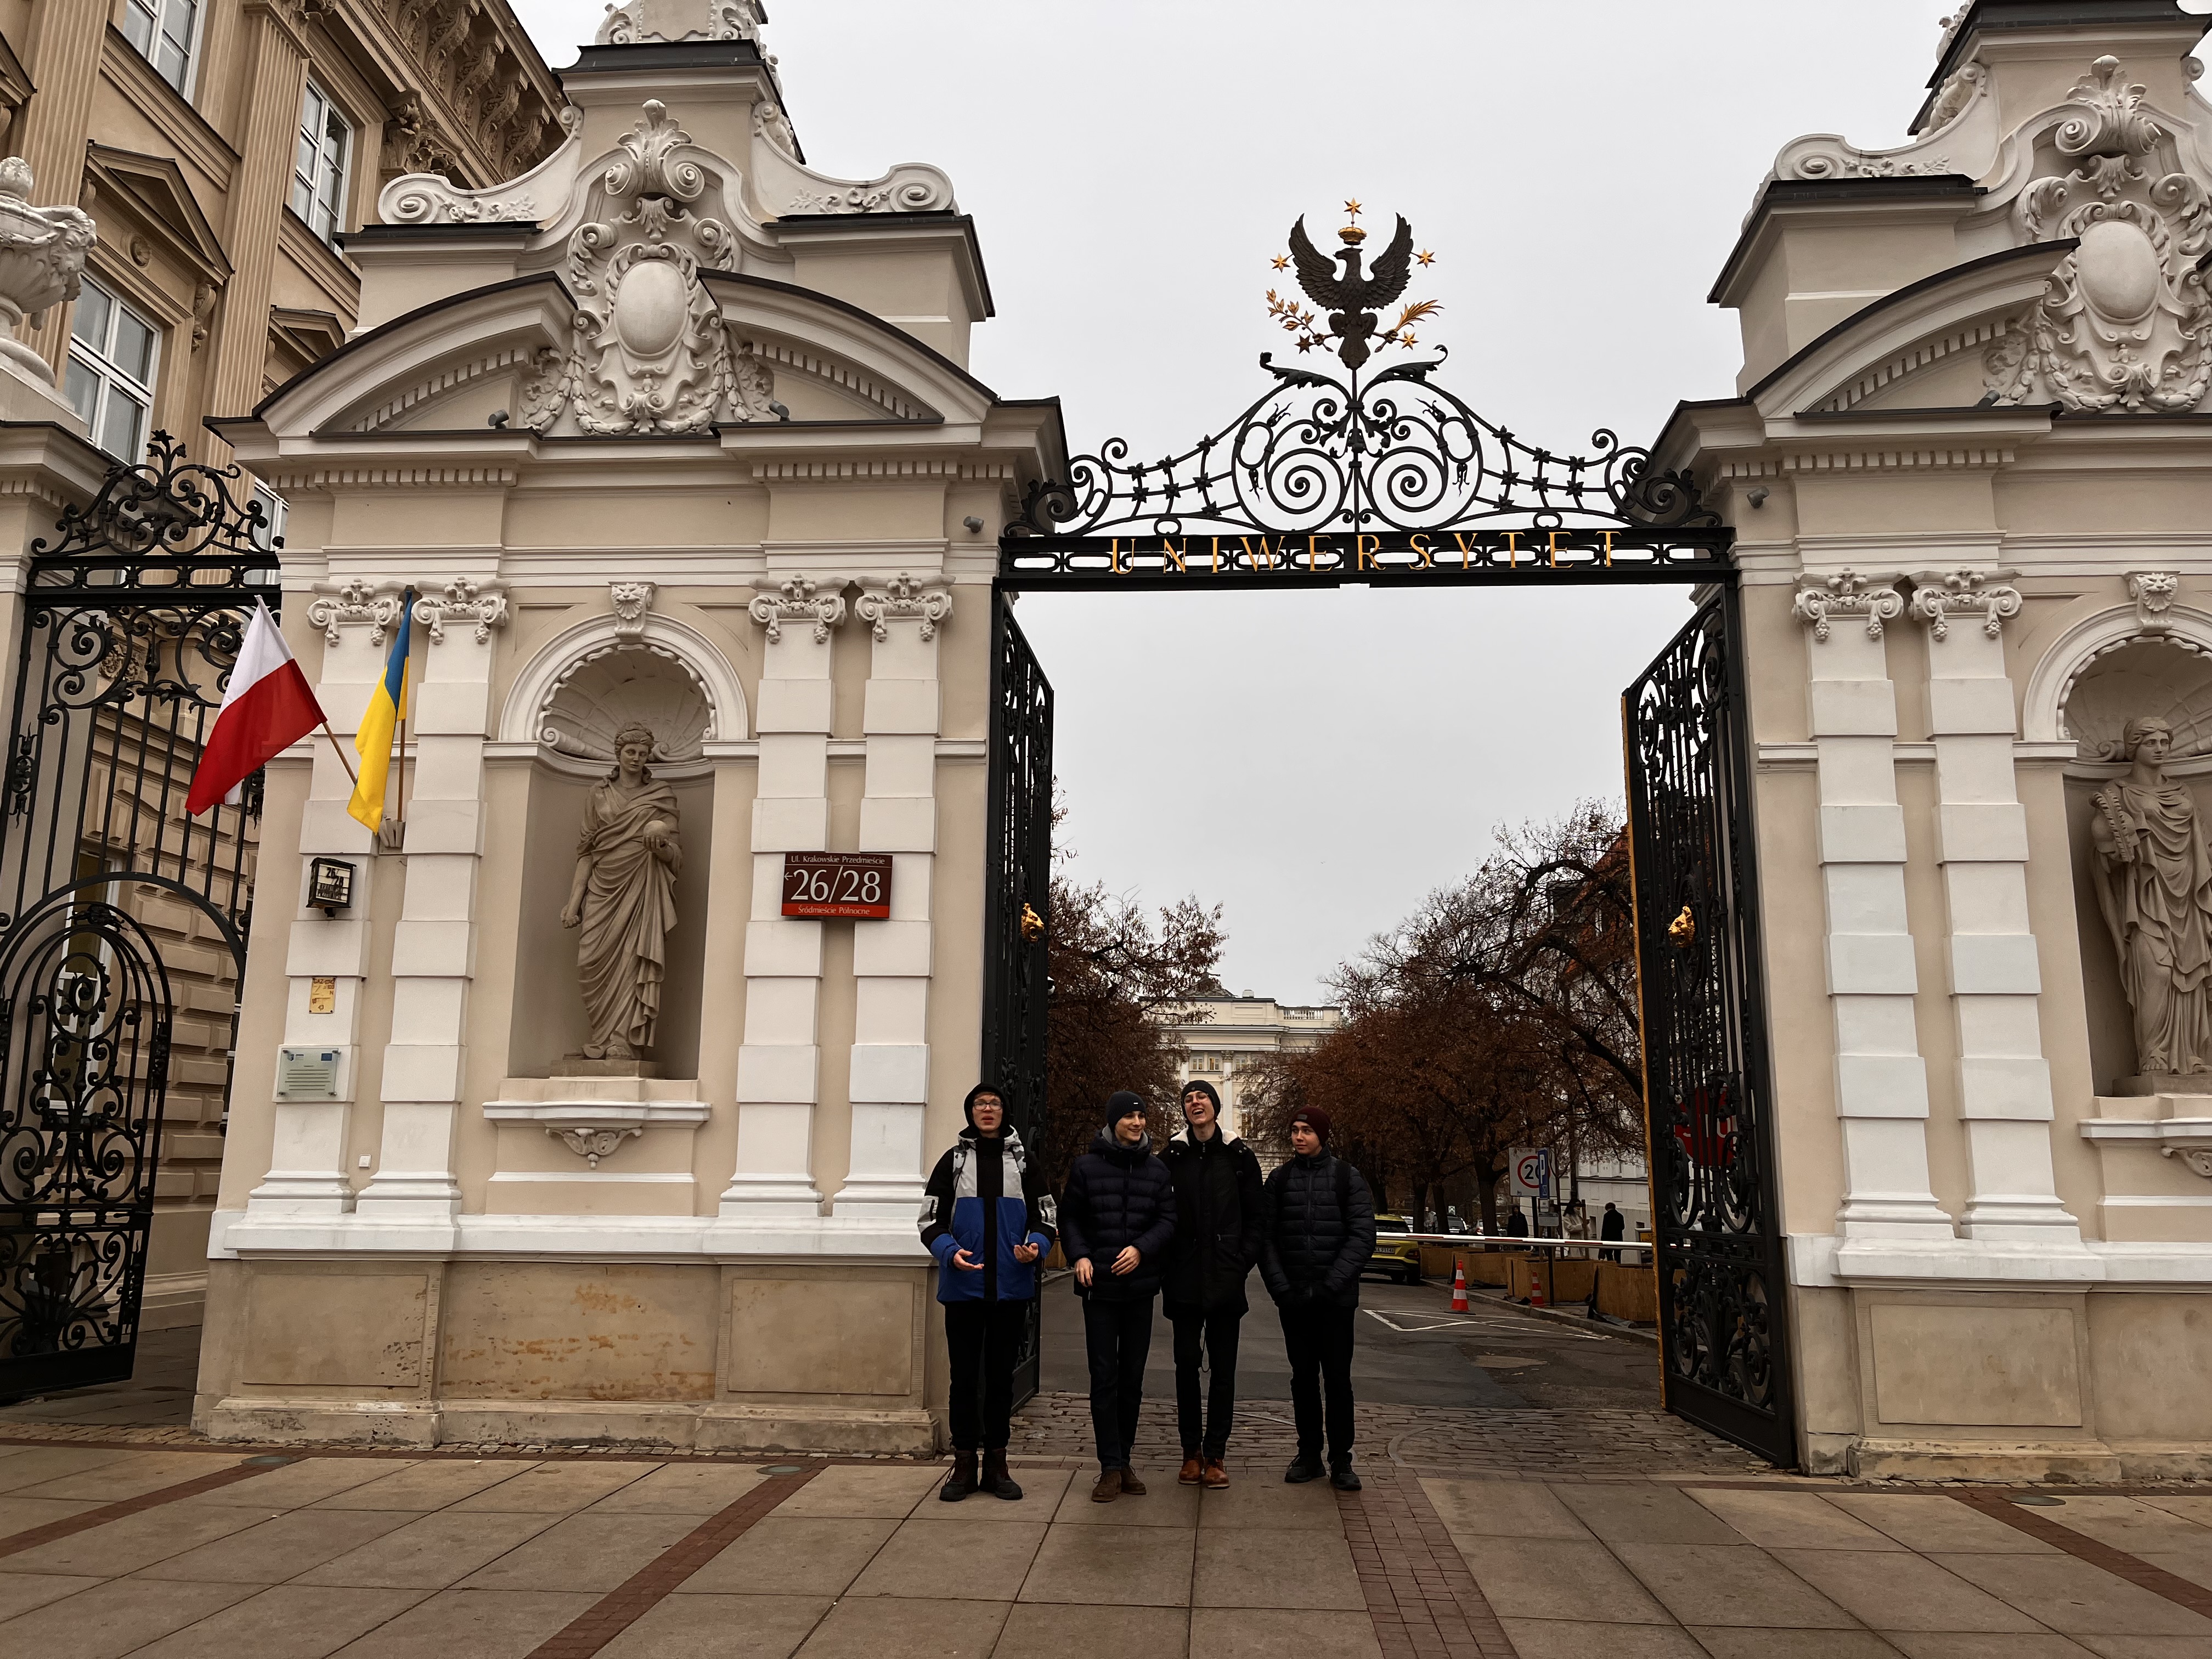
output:
[[[991,803],[984,887],[982,1075],[1029,1146],[1044,1128],[1046,947],[1053,887],[1053,686],[991,595]],[[1013,1371],[1015,1405],[1037,1391],[1040,1303]]]

